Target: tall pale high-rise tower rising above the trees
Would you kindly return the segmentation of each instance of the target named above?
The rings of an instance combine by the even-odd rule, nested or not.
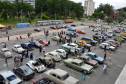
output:
[[[91,16],[94,13],[95,10],[95,3],[93,0],[85,0],[84,3],[84,14],[87,16]]]

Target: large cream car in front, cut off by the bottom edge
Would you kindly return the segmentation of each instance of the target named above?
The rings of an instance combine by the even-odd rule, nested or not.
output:
[[[79,80],[70,76],[68,72],[62,69],[50,69],[45,72],[47,78],[57,84],[78,84]]]

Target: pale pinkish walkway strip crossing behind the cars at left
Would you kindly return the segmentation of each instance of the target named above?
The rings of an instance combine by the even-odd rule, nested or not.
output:
[[[52,33],[52,32],[59,32],[61,30],[65,30],[65,29],[60,29],[60,30],[49,30],[49,33]],[[32,33],[31,37],[38,37],[38,36],[41,36],[41,35],[44,35],[44,32],[36,32],[36,33]],[[9,36],[9,41],[16,41],[16,37],[22,37],[23,39],[27,39],[27,34],[20,34],[20,35],[13,35],[13,36]],[[0,43],[2,42],[8,42],[8,38],[7,37],[3,37],[3,38],[0,38]]]

